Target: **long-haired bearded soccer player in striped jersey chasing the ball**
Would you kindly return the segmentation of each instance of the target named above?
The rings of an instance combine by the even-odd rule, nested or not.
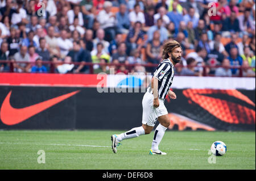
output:
[[[164,106],[164,98],[166,95],[171,99],[176,99],[176,95],[170,90],[172,80],[174,79],[174,65],[181,60],[181,46],[173,40],[168,41],[163,47],[163,61],[160,62],[151,79],[151,85],[147,87],[147,91],[142,99],[142,126],[133,128],[130,131],[121,134],[113,134],[112,150],[117,153],[117,146],[122,140],[149,134],[156,121],[159,121],[158,127],[155,129],[154,138],[150,154],[162,154],[158,145],[164,136],[164,132],[170,125],[170,119],[166,107]]]

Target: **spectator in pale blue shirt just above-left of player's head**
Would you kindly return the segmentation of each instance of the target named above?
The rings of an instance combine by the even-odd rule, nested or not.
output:
[[[159,18],[156,21],[155,26],[152,26],[149,28],[147,31],[147,41],[151,41],[153,39],[154,32],[158,30],[160,32],[160,41],[163,43],[168,39],[168,31],[167,29],[163,26],[163,20]]]

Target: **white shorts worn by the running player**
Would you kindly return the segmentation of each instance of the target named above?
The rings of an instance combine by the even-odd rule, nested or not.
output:
[[[154,95],[150,92],[146,92],[142,99],[142,124],[154,127],[158,117],[167,115],[166,106],[164,106],[164,99],[159,99],[159,107],[153,106]]]

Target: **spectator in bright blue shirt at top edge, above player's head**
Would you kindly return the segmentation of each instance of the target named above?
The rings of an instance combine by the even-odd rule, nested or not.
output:
[[[177,11],[177,6],[179,6],[179,2],[172,1],[172,11],[167,13],[167,16],[171,22],[174,22],[176,30],[179,29],[179,24],[181,20],[183,20],[183,15]]]

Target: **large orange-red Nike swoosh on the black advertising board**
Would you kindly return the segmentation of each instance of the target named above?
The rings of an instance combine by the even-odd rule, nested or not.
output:
[[[10,104],[10,91],[7,94],[5,100],[3,100],[3,104],[0,110],[0,119],[6,125],[14,125],[21,123],[22,121],[27,120],[28,118],[38,114],[39,112],[42,112],[47,108],[52,107],[65,99],[68,99],[69,97],[77,94],[78,92],[79,91],[73,91],[68,94],[57,96],[56,98],[52,98],[44,102],[40,102],[38,104],[34,104],[32,106],[24,108],[14,108]]]

